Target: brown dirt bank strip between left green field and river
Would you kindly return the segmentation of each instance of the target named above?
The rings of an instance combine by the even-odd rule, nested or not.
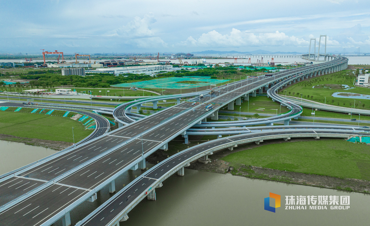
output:
[[[61,151],[71,145],[73,143],[64,142],[64,141],[53,141],[53,140],[41,140],[36,138],[25,138],[25,137],[17,137],[7,134],[0,134],[0,140],[6,141],[14,141],[19,143],[24,143],[28,145],[34,145],[39,147],[46,147],[53,150]]]

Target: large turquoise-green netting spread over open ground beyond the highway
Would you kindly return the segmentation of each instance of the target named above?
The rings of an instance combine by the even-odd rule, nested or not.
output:
[[[149,81],[141,81],[141,82],[131,82],[131,83],[121,83],[112,86],[118,87],[138,87],[138,88],[151,88],[151,89],[190,89],[206,86],[206,85],[216,85],[218,83],[224,83],[229,81],[228,79],[208,79],[200,76],[201,78],[185,78],[185,77],[172,77],[172,78],[162,78],[162,79],[153,79]],[[179,83],[184,81],[192,81],[196,82],[194,84],[191,83]]]

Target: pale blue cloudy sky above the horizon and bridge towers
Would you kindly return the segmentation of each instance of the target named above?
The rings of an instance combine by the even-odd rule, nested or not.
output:
[[[1,0],[0,21],[0,53],[370,52],[369,0]]]

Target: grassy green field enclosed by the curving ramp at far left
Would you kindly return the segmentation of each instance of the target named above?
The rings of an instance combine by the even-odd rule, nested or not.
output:
[[[0,111],[1,134],[73,143],[72,127],[75,143],[94,131],[67,117]]]

